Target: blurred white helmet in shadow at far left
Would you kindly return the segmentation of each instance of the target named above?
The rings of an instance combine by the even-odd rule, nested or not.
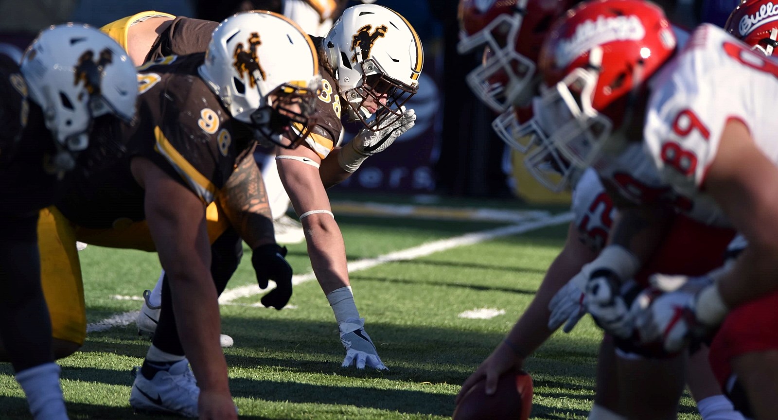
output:
[[[89,145],[94,118],[113,114],[130,122],[135,116],[135,66],[124,48],[93,27],[65,23],[41,31],[19,68],[56,139],[58,170],[70,170],[75,153]]]

